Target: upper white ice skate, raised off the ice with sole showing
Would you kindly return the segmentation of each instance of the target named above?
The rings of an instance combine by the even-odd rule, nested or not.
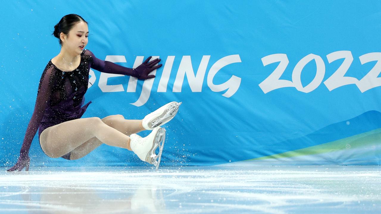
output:
[[[180,105],[181,102],[170,102],[149,113],[142,121],[143,128],[152,130],[157,126],[168,123],[176,115]]]

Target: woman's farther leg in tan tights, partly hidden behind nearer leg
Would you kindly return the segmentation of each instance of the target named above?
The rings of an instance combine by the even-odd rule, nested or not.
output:
[[[125,133],[128,136],[146,130],[143,128],[141,120],[126,120],[123,115],[109,115],[102,118],[101,120],[108,126],[117,129],[118,131]],[[71,151],[70,160],[77,160],[82,158],[102,144],[103,143],[99,141],[98,138],[93,137]],[[127,144],[127,149],[131,150],[129,143]]]

